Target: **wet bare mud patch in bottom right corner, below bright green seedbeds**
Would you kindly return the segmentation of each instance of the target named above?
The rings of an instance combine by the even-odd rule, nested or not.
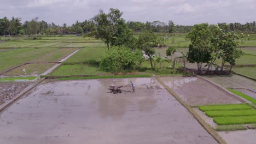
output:
[[[223,140],[226,143],[232,144],[255,144],[256,141],[256,130],[237,130],[237,131],[220,131],[218,132],[220,136],[222,136]]]

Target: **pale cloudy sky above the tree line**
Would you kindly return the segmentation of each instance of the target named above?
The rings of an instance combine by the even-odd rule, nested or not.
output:
[[[176,25],[256,21],[256,0],[0,0],[0,18],[21,17],[24,22],[39,17],[70,26],[94,17],[100,9],[108,13],[109,8],[123,11],[126,21],[172,20]]]

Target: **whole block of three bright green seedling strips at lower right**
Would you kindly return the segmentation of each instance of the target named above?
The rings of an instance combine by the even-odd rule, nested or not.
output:
[[[218,125],[256,123],[256,110],[248,104],[199,106],[199,109],[204,111],[207,116],[213,117],[213,121]],[[237,127],[237,129],[240,128]]]

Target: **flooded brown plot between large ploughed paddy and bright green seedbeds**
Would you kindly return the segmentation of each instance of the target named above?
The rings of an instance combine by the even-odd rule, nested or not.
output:
[[[239,104],[244,101],[199,77],[160,77],[189,105]]]

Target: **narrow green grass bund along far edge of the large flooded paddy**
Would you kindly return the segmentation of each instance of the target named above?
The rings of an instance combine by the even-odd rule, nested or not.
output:
[[[152,75],[104,75],[104,76],[88,76],[88,77],[64,77],[57,80],[82,80],[82,79],[115,79],[115,78],[131,78],[131,77],[151,77]]]

